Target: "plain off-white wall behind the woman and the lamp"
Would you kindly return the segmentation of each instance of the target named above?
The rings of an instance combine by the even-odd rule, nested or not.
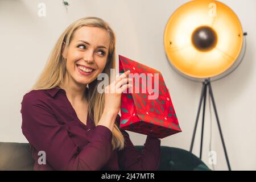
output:
[[[46,17],[38,16],[38,4],[46,3]],[[68,13],[61,1],[0,0],[0,141],[27,142],[23,137],[20,102],[44,67],[49,52],[61,32],[83,16],[98,16],[109,22],[117,35],[117,54],[158,69],[170,89],[182,133],[162,139],[163,146],[189,150],[201,84],[178,75],[168,63],[163,47],[163,31],[168,18],[187,0],[93,0],[71,1]],[[212,83],[222,132],[232,169],[256,169],[256,67],[254,0],[222,0],[240,18],[247,36],[247,51],[240,67]],[[213,113],[213,110],[212,110]],[[220,134],[213,115],[212,150],[217,152],[218,170],[226,170]],[[200,119],[201,123],[201,119]],[[205,115],[203,160],[208,164],[209,108]],[[200,126],[193,152],[199,155]],[[146,137],[130,133],[134,144]],[[208,164],[209,166],[209,164]]]

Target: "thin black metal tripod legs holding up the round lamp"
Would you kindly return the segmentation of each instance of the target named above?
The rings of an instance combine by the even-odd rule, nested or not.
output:
[[[212,86],[210,85],[210,78],[205,79],[205,81],[203,82],[203,88],[202,88],[202,91],[201,91],[199,109],[197,111],[196,123],[195,123],[195,128],[194,128],[194,131],[193,131],[193,137],[192,137],[190,152],[192,152],[192,150],[193,150],[193,144],[194,144],[195,135],[196,135],[197,123],[198,123],[198,120],[199,120],[201,105],[202,105],[203,98],[204,98],[203,121],[202,121],[201,144],[200,144],[200,159],[201,159],[202,146],[203,146],[203,135],[204,135],[204,114],[205,114],[205,102],[206,102],[206,98],[207,98],[207,88],[209,88],[210,100],[212,101],[212,104],[213,104],[214,113],[215,113],[216,121],[217,121],[217,125],[218,125],[218,130],[220,131],[220,137],[221,137],[222,146],[223,146],[224,152],[225,152],[226,163],[228,164],[229,171],[231,171],[231,167],[230,167],[230,164],[229,164],[229,158],[228,158],[228,154],[226,152],[226,147],[225,147],[225,143],[224,143],[224,138],[223,138],[222,131],[221,131],[220,121],[218,119],[217,109],[216,109],[216,105],[215,105],[214,98],[213,98]]]

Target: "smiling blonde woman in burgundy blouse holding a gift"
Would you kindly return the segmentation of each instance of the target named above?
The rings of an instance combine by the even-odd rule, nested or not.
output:
[[[110,78],[110,68],[115,68],[115,35],[104,20],[76,20],[57,40],[20,110],[35,170],[158,168],[160,140],[148,136],[139,153],[119,129],[121,93],[132,87],[129,72],[104,93],[97,91],[97,76],[106,73]]]

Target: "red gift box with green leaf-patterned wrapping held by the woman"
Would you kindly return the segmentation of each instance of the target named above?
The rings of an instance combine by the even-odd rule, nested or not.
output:
[[[133,89],[122,93],[120,127],[157,138],[181,132],[162,74],[119,55],[119,73],[128,70]]]

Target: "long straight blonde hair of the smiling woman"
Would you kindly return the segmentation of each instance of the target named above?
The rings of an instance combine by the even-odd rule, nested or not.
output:
[[[46,67],[43,69],[43,72],[39,76],[35,85],[32,87],[32,90],[39,89],[52,89],[60,84],[63,84],[64,77],[66,73],[66,59],[62,56],[63,49],[68,49],[68,46],[73,38],[75,31],[82,27],[99,27],[108,32],[110,37],[110,46],[109,54],[107,58],[107,63],[102,71],[109,76],[110,82],[110,69],[115,68],[115,35],[112,28],[109,27],[109,24],[104,20],[96,17],[86,17],[81,18],[73,22],[64,32],[61,34],[60,38],[57,40],[55,47],[51,54],[49,55]],[[101,118],[101,115],[104,110],[105,98],[104,93],[97,92],[97,86],[100,83],[100,80],[94,80],[88,84],[88,90],[86,91],[86,98],[88,100],[88,114],[90,118],[94,119],[94,122],[97,126],[98,121]],[[124,138],[119,130],[119,127],[115,123],[113,128],[113,137],[112,137],[112,148],[118,148],[119,150],[124,147]]]

